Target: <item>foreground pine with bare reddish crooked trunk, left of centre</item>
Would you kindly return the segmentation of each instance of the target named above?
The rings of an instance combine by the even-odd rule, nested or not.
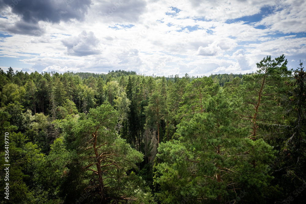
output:
[[[83,158],[83,174],[90,174],[88,187],[95,203],[135,201],[135,191],[129,189],[126,171],[137,168],[143,154],[132,149],[115,131],[118,113],[110,104],[91,108],[86,117],[62,123],[67,150],[78,149]],[[72,127],[72,128],[71,128]]]

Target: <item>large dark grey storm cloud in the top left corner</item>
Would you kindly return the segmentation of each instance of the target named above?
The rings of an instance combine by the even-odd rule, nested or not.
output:
[[[90,4],[91,0],[0,0],[0,10],[10,6],[12,13],[21,17],[21,21],[4,29],[12,33],[37,35],[35,31],[42,32],[38,27],[39,21],[82,21]]]

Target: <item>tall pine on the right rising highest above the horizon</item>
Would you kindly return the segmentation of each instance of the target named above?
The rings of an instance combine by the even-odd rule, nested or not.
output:
[[[275,97],[284,92],[285,78],[290,74],[284,55],[263,58],[257,65],[256,74],[244,77],[244,106],[239,111],[241,119],[251,123],[250,138],[256,139],[258,122],[267,123],[275,114]]]

